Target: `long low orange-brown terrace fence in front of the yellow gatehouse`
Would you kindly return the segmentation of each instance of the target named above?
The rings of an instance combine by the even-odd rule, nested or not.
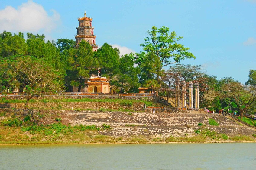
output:
[[[18,96],[26,95],[25,92],[5,92],[1,94],[2,96]],[[150,93],[86,93],[86,92],[63,92],[63,93],[53,93],[51,95],[66,95],[66,96],[136,96],[136,97],[152,97],[156,94]]]

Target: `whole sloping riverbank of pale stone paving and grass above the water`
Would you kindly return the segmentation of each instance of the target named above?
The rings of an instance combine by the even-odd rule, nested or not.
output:
[[[256,141],[255,129],[222,115],[102,110],[0,112],[0,144]]]

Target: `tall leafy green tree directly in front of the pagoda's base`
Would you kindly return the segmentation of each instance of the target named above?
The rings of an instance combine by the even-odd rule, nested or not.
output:
[[[64,50],[65,51],[65,50]],[[78,92],[85,85],[85,78],[89,78],[90,70],[98,67],[98,62],[94,58],[92,46],[82,40],[78,48],[69,48],[65,52],[68,55],[67,61],[67,82],[78,87]]]

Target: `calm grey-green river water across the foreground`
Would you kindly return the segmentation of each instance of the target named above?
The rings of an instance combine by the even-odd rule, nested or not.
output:
[[[256,143],[0,145],[0,169],[256,169]]]

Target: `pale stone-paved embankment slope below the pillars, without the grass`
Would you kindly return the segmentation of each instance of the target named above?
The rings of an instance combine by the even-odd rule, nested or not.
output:
[[[111,129],[100,131],[100,134],[113,137],[119,136],[159,136],[159,137],[189,137],[195,135],[195,130],[208,128],[228,136],[255,134],[252,128],[241,126],[222,115],[191,114],[191,113],[127,113],[99,111],[69,111],[60,114],[63,121],[71,125],[107,124]],[[219,123],[219,126],[209,125],[209,118]],[[198,123],[203,126],[198,126]]]

